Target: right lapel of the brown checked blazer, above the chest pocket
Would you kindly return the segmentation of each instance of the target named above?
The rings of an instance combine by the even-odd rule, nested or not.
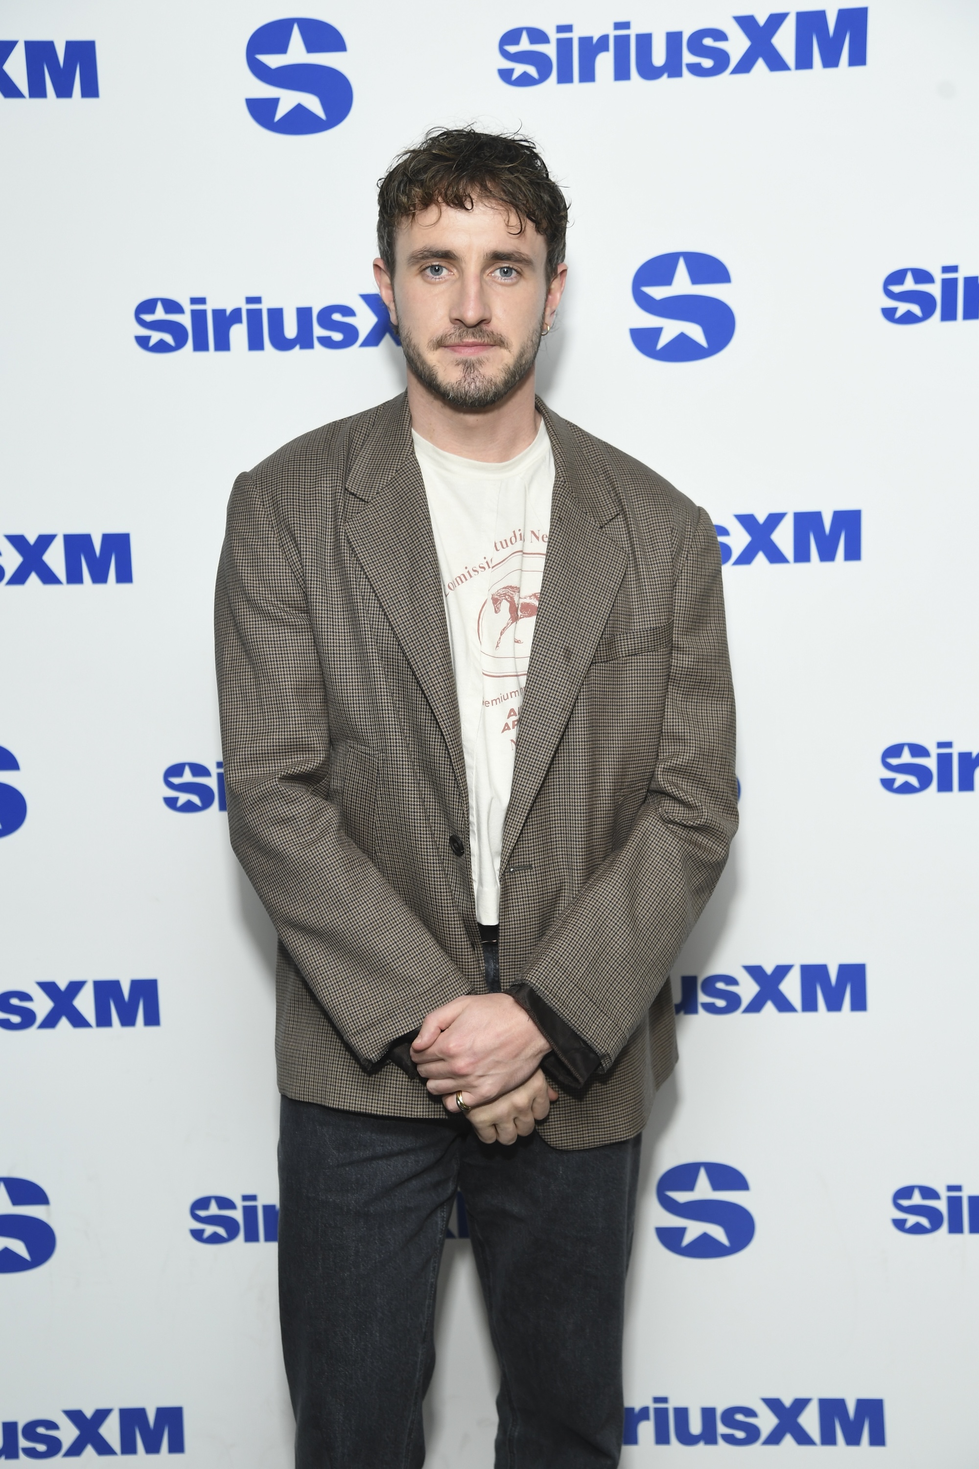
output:
[[[600,529],[619,513],[611,488],[574,463],[565,422],[540,401],[537,407],[555,454],[555,488],[501,871],[571,717],[628,564],[625,548]]]

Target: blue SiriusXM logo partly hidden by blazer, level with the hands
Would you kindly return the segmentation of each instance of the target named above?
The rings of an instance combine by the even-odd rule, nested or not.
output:
[[[815,1014],[822,997],[823,1009],[840,1012],[844,1008],[847,995],[851,1011],[867,1008],[867,967],[866,964],[838,964],[834,978],[828,964],[800,964],[798,981],[793,981],[793,993],[798,1003],[794,1005],[782,990],[796,968],[794,964],[776,964],[772,971],[760,964],[741,965],[750,978],[754,990],[747,1005],[741,1009],[744,996],[741,981],[734,974],[707,974],[697,980],[696,974],[681,975],[680,999],[674,1009],[678,1015],[759,1015],[768,1005],[779,1015]]]

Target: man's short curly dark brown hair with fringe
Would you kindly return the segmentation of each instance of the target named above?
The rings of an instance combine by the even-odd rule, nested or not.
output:
[[[568,201],[530,138],[520,132],[433,128],[417,148],[398,154],[377,181],[377,253],[393,273],[395,235],[402,220],[432,204],[473,209],[495,200],[547,241],[547,279],[564,260]]]

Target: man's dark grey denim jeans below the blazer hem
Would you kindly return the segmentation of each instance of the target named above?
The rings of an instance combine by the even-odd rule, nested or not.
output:
[[[561,1106],[561,1102],[556,1103]],[[462,1190],[501,1368],[496,1469],[612,1469],[640,1138],[558,1152],[282,1099],[279,1300],[296,1469],[418,1469]]]

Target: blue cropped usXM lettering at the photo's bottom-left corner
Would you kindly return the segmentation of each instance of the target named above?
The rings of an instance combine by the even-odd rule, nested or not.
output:
[[[145,1454],[159,1454],[166,1443],[169,1454],[183,1453],[183,1409],[157,1407],[150,1418],[145,1407],[120,1407],[119,1431],[113,1434],[114,1447],[103,1428],[114,1413],[113,1407],[97,1407],[84,1413],[81,1407],[66,1407],[62,1413],[69,1426],[63,1428],[57,1418],[31,1418],[26,1423],[16,1419],[3,1423],[0,1459],[57,1459],[69,1434],[75,1434],[66,1459],[78,1459],[87,1448],[97,1454],[138,1454],[139,1444]],[[112,1431],[110,1431],[112,1432]]]

